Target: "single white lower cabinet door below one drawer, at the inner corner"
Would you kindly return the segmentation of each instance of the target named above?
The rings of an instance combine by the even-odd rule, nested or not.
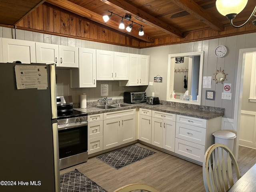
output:
[[[140,115],[139,140],[151,144],[151,117]]]

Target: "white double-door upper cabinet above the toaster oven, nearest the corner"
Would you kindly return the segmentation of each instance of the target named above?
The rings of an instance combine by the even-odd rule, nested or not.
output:
[[[130,54],[127,86],[148,85],[149,56]]]

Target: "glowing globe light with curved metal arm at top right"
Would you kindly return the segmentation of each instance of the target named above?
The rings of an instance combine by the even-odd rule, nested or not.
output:
[[[252,17],[256,18],[256,6],[252,11],[251,16],[248,18],[244,24],[236,26],[233,24],[233,19],[239,14],[246,6],[248,0],[216,0],[216,8],[220,14],[226,16],[230,20],[230,25],[234,28],[240,28],[245,26]],[[256,26],[256,19],[252,21],[252,24]]]

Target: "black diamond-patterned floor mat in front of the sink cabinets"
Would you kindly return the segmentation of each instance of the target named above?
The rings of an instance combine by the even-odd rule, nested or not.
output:
[[[156,152],[145,149],[143,147],[132,145],[126,148],[122,148],[101,156],[97,159],[103,161],[104,163],[119,169],[145,157],[148,157]]]

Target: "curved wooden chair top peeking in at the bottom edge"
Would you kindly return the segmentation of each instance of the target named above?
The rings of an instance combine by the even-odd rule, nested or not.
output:
[[[136,190],[140,190],[141,192],[159,192],[156,188],[150,186],[150,185],[146,185],[146,184],[139,184],[139,183],[134,183],[134,184],[129,184],[129,185],[125,185],[122,186],[116,190],[114,190],[114,192],[132,192],[132,191],[136,191]]]

